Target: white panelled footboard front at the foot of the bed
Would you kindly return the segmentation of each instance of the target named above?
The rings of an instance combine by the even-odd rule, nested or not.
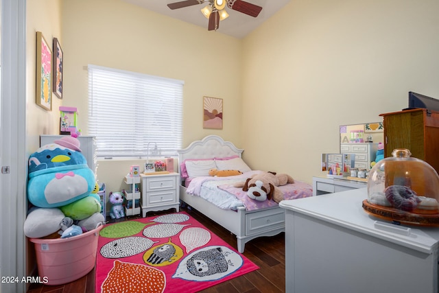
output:
[[[265,229],[285,226],[285,210],[269,209],[259,213],[246,215],[246,235],[252,235]]]

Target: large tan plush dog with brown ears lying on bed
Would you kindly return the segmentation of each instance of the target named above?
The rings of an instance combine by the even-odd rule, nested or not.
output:
[[[276,174],[275,172],[264,172],[254,174],[248,178],[245,183],[237,183],[235,187],[242,187],[247,191],[247,196],[254,200],[274,200],[281,202],[283,200],[283,192],[278,186],[294,183],[292,176],[287,174]]]

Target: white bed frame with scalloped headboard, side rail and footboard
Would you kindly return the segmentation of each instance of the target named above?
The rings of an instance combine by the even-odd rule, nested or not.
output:
[[[217,135],[209,135],[179,150],[178,165],[180,166],[180,163],[186,159],[209,159],[233,155],[241,157],[242,152],[244,150],[237,148],[230,141],[224,141]],[[178,168],[180,171],[180,167]],[[281,207],[257,211],[246,211],[244,207],[239,207],[237,211],[220,209],[199,196],[187,194],[184,185],[180,185],[180,200],[235,234],[239,253],[244,253],[246,242],[251,239],[274,236],[285,231],[285,209]]]

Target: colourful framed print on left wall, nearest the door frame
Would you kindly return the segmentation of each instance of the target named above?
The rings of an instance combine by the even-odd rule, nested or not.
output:
[[[36,32],[36,104],[52,110],[52,51],[41,32]]]

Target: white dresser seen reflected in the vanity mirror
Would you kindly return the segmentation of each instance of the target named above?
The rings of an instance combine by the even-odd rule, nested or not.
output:
[[[377,156],[378,143],[341,143],[342,154],[355,154],[355,168],[370,169]]]

